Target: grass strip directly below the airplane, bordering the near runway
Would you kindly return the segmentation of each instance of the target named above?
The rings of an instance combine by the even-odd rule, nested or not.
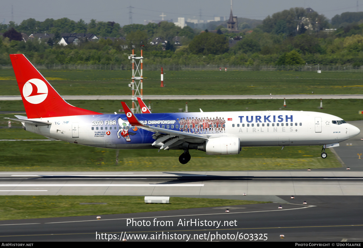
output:
[[[0,129],[2,137],[39,139],[23,129]],[[32,136],[33,135],[33,136]],[[44,137],[43,137],[44,138]],[[188,164],[178,161],[180,150],[116,150],[77,145],[65,141],[1,141],[0,171],[183,171],[183,170],[286,170],[340,167],[330,150],[320,157],[321,146],[245,147],[240,154],[208,156],[190,150]]]

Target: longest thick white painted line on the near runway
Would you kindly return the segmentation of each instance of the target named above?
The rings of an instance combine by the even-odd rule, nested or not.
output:
[[[204,184],[0,184],[0,187],[200,187]]]

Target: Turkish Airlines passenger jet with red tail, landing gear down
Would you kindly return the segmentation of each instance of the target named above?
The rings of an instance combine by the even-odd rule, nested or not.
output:
[[[134,114],[121,102],[125,113],[102,114],[67,103],[23,54],[10,58],[26,116],[8,119],[53,140],[112,149],[179,149],[183,150],[179,162],[186,164],[190,149],[227,155],[239,154],[244,146],[322,145],[321,157],[326,158],[326,148],[360,133],[337,116],[307,111],[151,113],[147,109]]]

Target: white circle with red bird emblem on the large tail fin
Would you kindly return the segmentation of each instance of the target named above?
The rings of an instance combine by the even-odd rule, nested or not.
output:
[[[23,86],[23,96],[29,103],[41,103],[48,96],[48,87],[43,80],[38,78],[30,79]]]

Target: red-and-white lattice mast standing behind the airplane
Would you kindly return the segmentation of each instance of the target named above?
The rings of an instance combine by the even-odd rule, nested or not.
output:
[[[132,62],[132,82],[131,82],[131,89],[132,89],[132,108],[131,111],[133,113],[139,113],[139,104],[137,102],[137,98],[142,99],[142,47],[141,46],[141,56],[136,57],[134,49],[132,49],[132,54],[129,57]],[[135,102],[136,100],[136,102]]]

